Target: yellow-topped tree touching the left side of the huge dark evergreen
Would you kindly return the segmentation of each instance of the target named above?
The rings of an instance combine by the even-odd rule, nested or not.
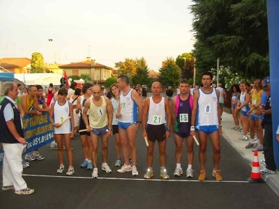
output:
[[[194,57],[193,53],[183,53],[177,56],[176,65],[181,68],[182,78],[190,79],[194,75]]]

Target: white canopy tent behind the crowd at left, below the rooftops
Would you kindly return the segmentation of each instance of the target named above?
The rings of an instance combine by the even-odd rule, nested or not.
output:
[[[48,86],[50,83],[60,85],[62,75],[58,73],[17,73],[15,79],[20,80],[25,85]]]

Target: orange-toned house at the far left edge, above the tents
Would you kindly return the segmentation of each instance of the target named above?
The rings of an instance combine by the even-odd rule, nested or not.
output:
[[[31,59],[28,58],[2,58],[0,66],[14,73],[29,73],[31,70]]]

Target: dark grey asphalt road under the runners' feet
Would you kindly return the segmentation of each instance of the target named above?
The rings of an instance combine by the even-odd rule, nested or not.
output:
[[[24,169],[27,185],[35,189],[32,195],[16,195],[13,191],[0,191],[0,208],[278,208],[278,196],[266,184],[249,184],[251,167],[239,153],[221,138],[220,169],[223,182],[211,176],[213,169],[212,147],[208,144],[206,181],[199,182],[198,147],[195,145],[194,178],[174,178],[174,137],[167,142],[167,171],[170,180],[160,179],[158,146],[156,146],[152,180],[144,180],[146,169],[146,146],[137,133],[139,176],[117,173],[114,138],[110,138],[108,164],[112,173],[100,169],[101,155],[98,152],[99,178],[92,179],[91,171],[81,169],[82,148],[78,137],[73,139],[73,165],[75,174],[67,177],[57,174],[57,152],[47,145],[40,148],[45,160],[30,162]],[[66,152],[65,166],[68,167]],[[183,171],[186,173],[186,147],[183,147]]]

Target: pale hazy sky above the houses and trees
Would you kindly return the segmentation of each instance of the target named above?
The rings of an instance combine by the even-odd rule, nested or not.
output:
[[[158,70],[193,49],[191,0],[0,0],[0,58],[43,54],[45,63],[114,68],[125,58]],[[48,39],[52,39],[49,42]]]

